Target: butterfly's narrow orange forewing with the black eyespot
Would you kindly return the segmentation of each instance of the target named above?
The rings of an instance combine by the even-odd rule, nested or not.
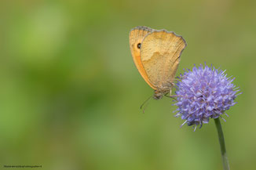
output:
[[[151,33],[153,31],[152,28],[149,27],[134,27],[129,34],[130,39],[130,52],[133,56],[133,62],[135,63],[137,70],[140,72],[142,78],[144,78],[144,81],[148,83],[152,87],[152,89],[155,89],[155,86],[152,85],[152,82],[149,81],[147,73],[144,71],[144,67],[141,63],[141,44],[143,41],[143,38]]]

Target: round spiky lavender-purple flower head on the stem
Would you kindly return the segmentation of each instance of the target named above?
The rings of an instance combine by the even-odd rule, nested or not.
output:
[[[227,78],[225,71],[200,65],[181,74],[180,79],[174,105],[178,107],[176,117],[185,120],[182,125],[194,125],[196,130],[197,125],[201,128],[209,118],[222,118],[225,110],[236,104],[234,99],[240,90],[232,84],[235,78]]]

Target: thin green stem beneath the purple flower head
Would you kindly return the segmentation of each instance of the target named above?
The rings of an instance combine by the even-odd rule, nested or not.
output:
[[[222,157],[222,163],[223,163],[223,170],[229,170],[229,160],[227,157],[227,152],[226,152],[226,148],[225,148],[225,140],[224,140],[224,135],[222,132],[222,128],[221,128],[221,121],[219,118],[215,118],[215,125],[218,131],[218,141],[220,143],[221,146],[221,157]]]

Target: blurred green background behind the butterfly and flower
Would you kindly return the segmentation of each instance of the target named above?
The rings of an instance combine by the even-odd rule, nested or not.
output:
[[[207,62],[242,95],[223,122],[231,169],[256,167],[255,1],[1,1],[0,160],[41,169],[221,169],[214,121],[180,128],[134,66],[130,29],[188,43],[177,73]],[[17,169],[17,168],[16,168]]]

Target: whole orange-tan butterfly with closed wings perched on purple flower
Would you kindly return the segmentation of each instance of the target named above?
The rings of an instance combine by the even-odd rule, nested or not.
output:
[[[174,87],[174,77],[187,46],[180,35],[149,27],[134,27],[129,34],[130,51],[144,81],[155,90],[153,98],[162,99]]]

